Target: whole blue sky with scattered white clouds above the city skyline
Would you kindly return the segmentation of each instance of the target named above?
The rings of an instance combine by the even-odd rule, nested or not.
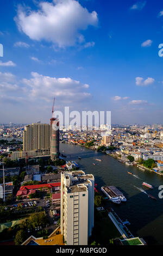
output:
[[[0,123],[48,122],[55,109],[162,123],[162,1],[1,4]]]

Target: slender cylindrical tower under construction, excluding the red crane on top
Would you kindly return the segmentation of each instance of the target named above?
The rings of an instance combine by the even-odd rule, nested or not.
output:
[[[59,119],[51,118],[51,160],[59,158]]]

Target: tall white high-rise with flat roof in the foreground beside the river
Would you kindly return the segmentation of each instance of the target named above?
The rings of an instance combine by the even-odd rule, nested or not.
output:
[[[66,245],[87,245],[94,225],[94,176],[61,172],[61,234]]]

